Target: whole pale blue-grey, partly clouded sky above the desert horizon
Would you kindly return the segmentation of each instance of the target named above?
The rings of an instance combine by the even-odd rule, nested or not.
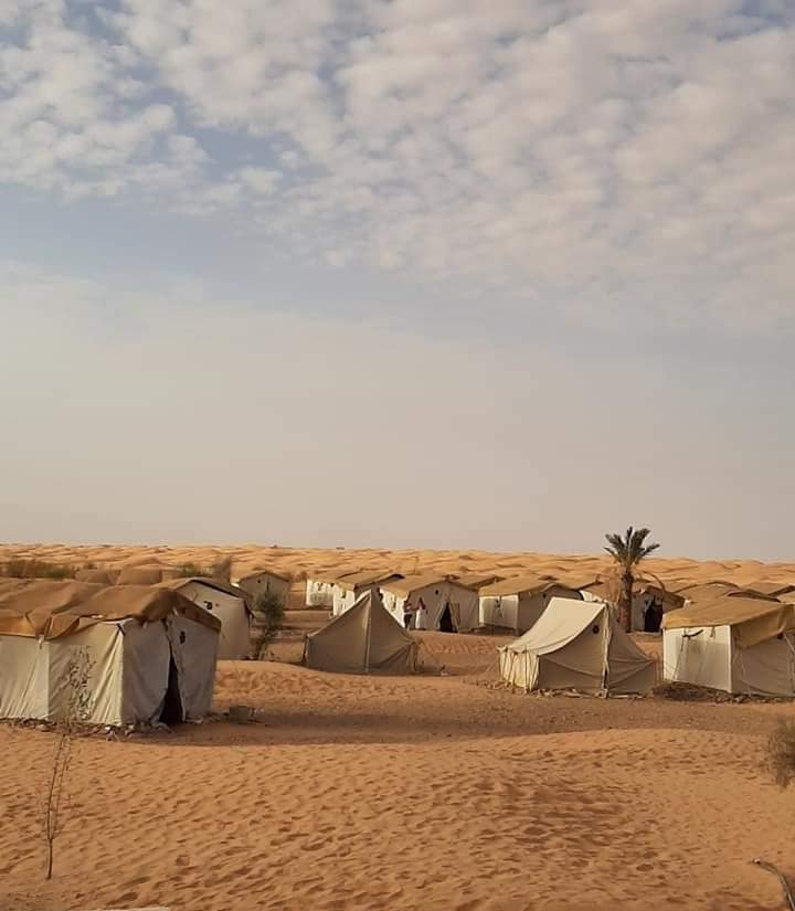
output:
[[[791,0],[0,0],[0,539],[795,560]]]

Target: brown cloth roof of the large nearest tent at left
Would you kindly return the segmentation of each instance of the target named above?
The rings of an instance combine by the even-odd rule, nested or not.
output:
[[[0,581],[0,634],[4,635],[54,639],[103,621],[155,623],[171,614],[221,628],[221,621],[209,611],[160,585]]]

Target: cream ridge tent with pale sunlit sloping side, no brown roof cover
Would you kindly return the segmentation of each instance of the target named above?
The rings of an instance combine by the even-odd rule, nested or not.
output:
[[[607,604],[553,597],[536,625],[499,649],[500,674],[523,690],[648,692],[655,663],[618,626]]]

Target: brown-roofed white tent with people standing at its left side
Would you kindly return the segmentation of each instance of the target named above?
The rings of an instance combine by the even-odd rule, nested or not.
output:
[[[479,625],[478,593],[446,575],[409,575],[380,587],[384,607],[412,628],[468,633]],[[423,608],[421,611],[421,608]]]

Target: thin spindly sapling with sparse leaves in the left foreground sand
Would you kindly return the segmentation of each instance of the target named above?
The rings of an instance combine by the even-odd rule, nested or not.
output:
[[[94,661],[87,649],[77,649],[66,667],[66,703],[56,728],[52,766],[41,795],[41,826],[46,845],[46,879],[52,879],[55,840],[63,831],[66,806],[66,776],[73,743],[82,724],[91,718],[92,692],[88,686]]]

